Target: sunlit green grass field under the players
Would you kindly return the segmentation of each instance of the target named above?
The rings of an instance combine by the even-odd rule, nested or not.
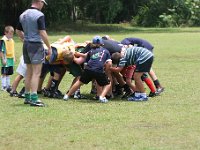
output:
[[[74,99],[66,102],[40,97],[48,106],[34,108],[0,91],[0,150],[200,149],[199,31],[130,29],[70,34],[77,42],[96,34],[109,34],[116,40],[140,37],[150,41],[155,46],[153,68],[165,92],[140,103],[120,99],[107,104]],[[53,42],[66,34],[51,33],[49,38]],[[19,60],[22,43],[17,38],[15,41]],[[60,90],[66,92],[71,81],[72,76],[66,74]],[[81,91],[87,95],[90,84]]]

